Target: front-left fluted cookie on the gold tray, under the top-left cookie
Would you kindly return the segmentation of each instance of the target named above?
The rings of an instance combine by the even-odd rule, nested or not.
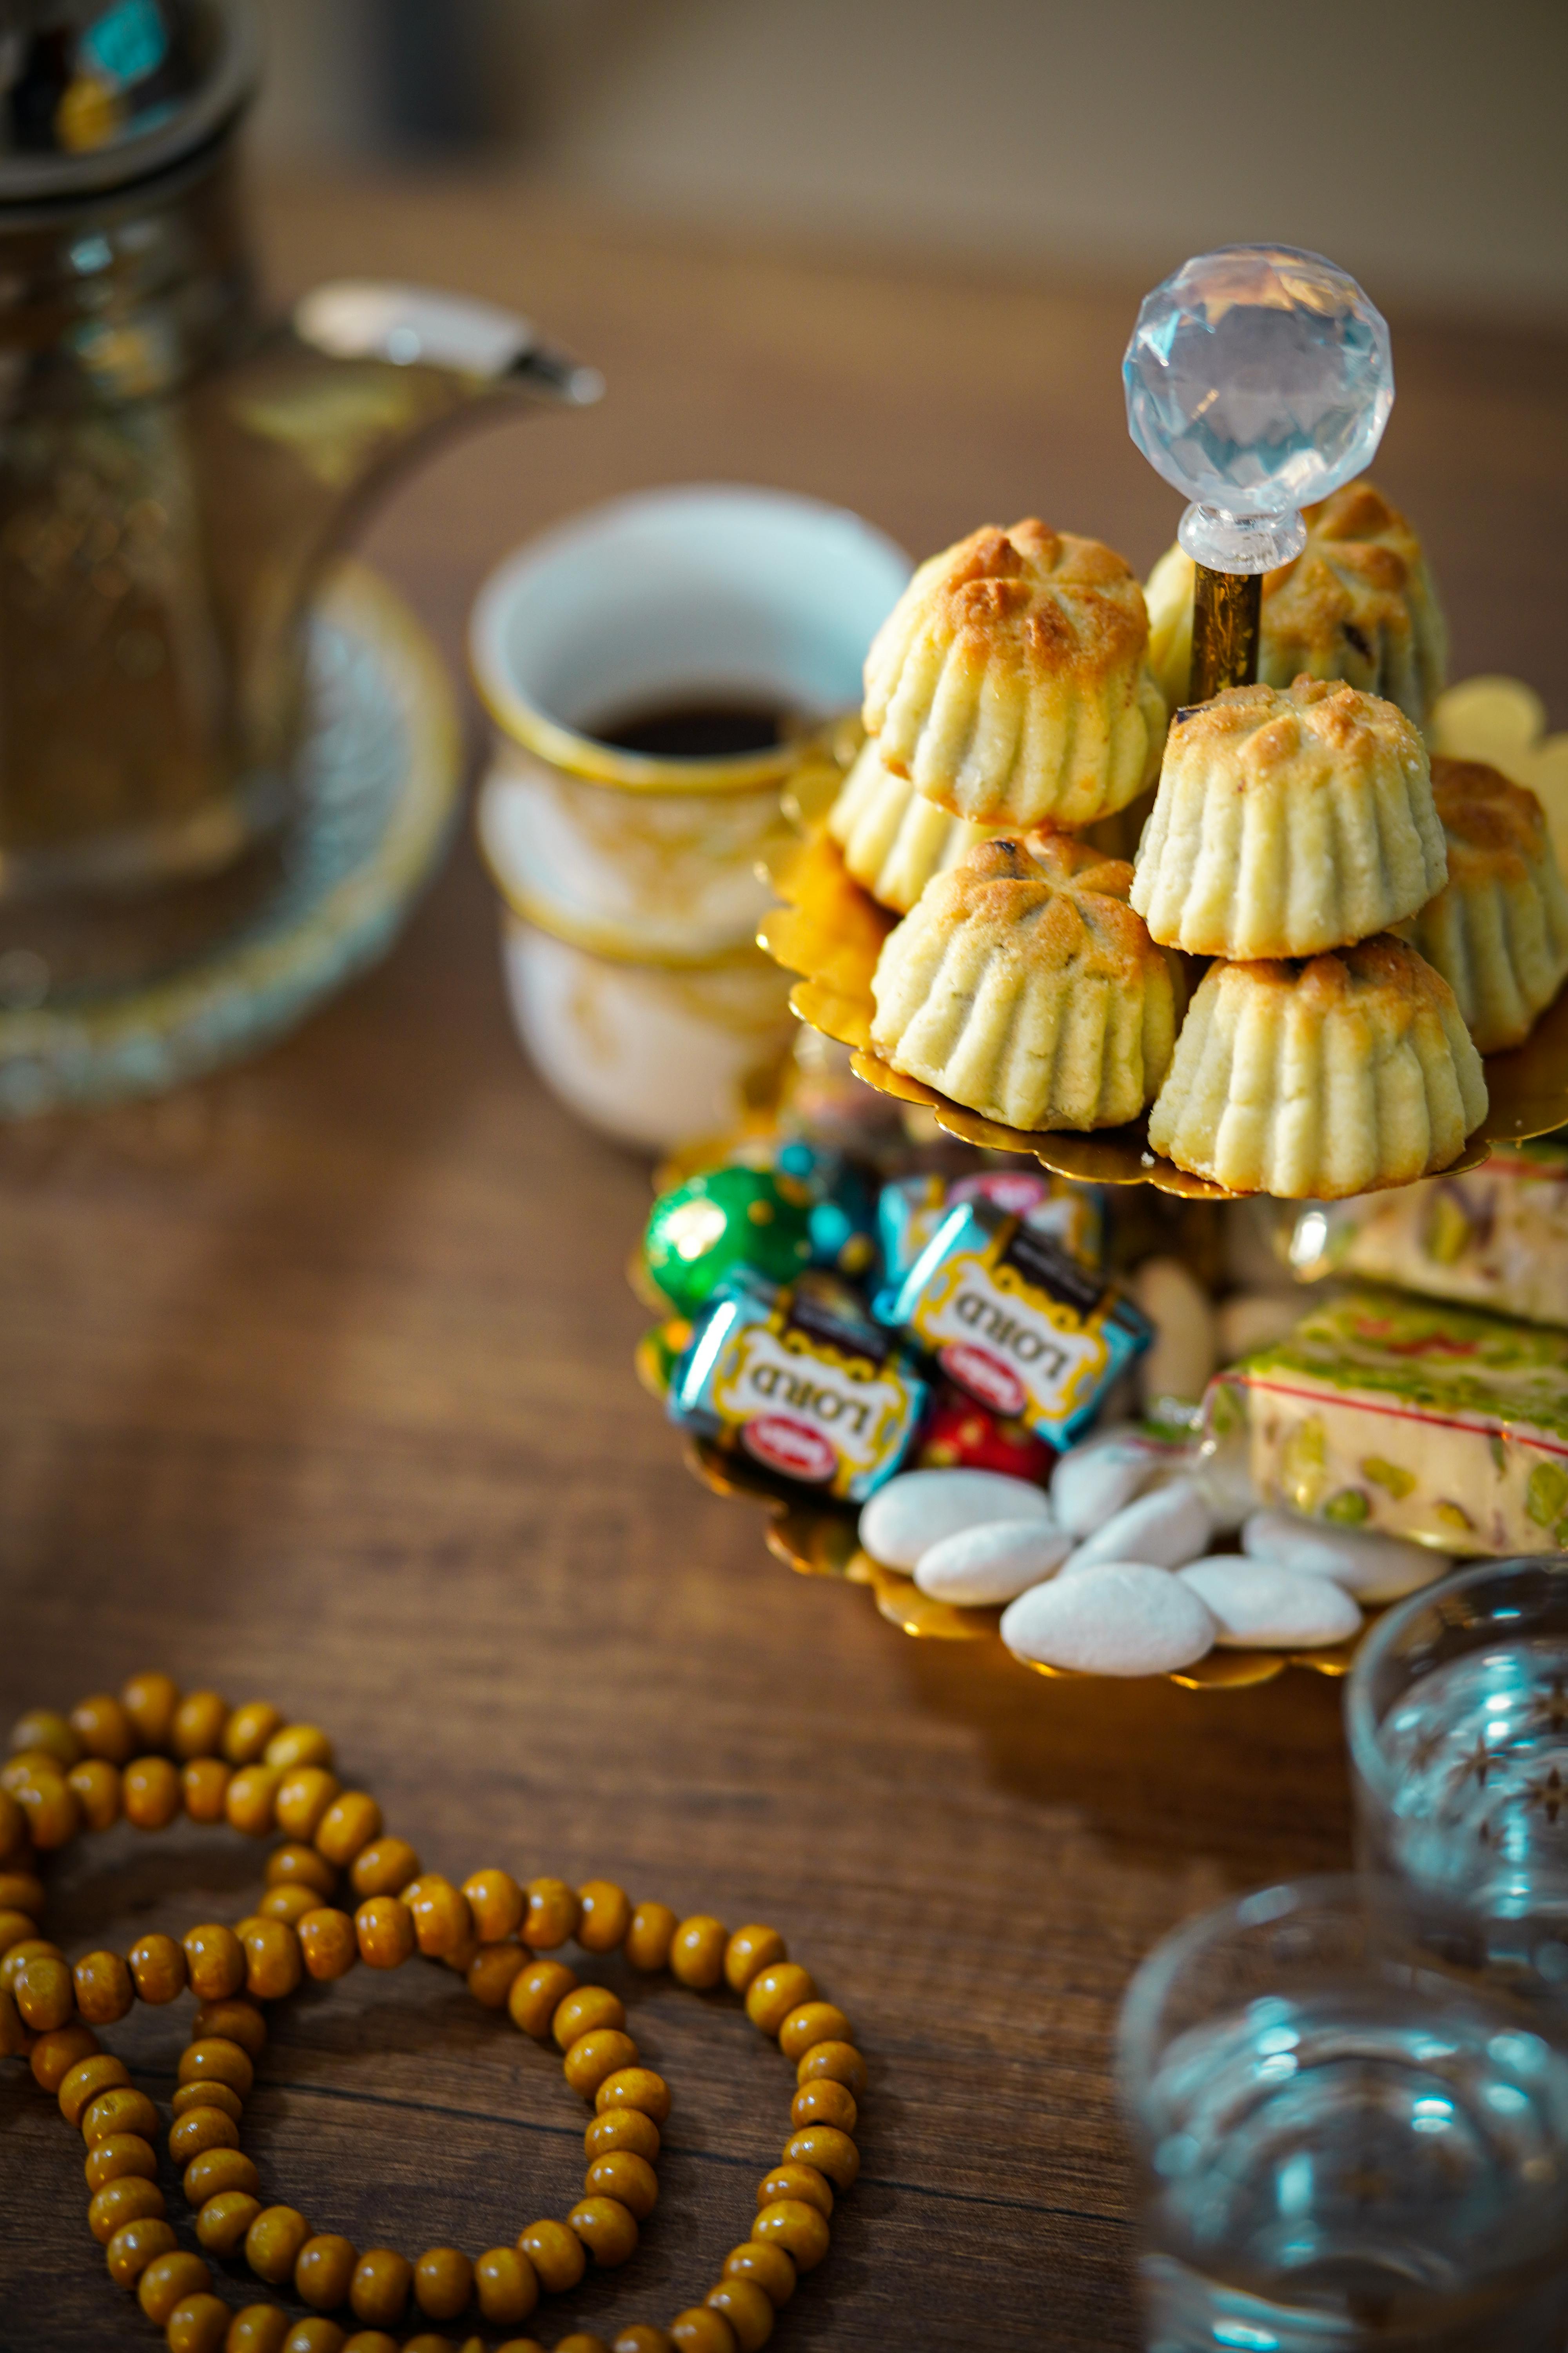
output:
[[[882,948],[877,1052],[1009,1127],[1135,1120],[1171,1061],[1178,972],[1131,875],[1060,833],[971,849]]]

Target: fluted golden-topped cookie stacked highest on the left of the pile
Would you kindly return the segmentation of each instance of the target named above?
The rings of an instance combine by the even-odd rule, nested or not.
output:
[[[919,567],[865,656],[884,765],[980,826],[1088,826],[1154,781],[1166,706],[1143,588],[1025,520]]]

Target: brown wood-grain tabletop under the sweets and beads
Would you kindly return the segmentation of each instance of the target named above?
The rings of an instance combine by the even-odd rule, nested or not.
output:
[[[470,438],[376,525],[454,652],[522,534],[668,478],[842,499],[919,551],[1039,511],[1145,565],[1175,522],[1121,426],[1135,287],[698,249],[505,186],[273,188],[266,245],[282,289],[465,285],[609,374],[597,414]],[[1396,351],[1378,473],[1427,532],[1455,668],[1535,680],[1561,725],[1563,353],[1420,325]],[[604,1873],[776,1922],[875,2071],[860,2186],[778,2346],[1133,2346],[1117,2000],[1185,1913],[1345,1864],[1338,1692],[1046,1685],[771,1562],[635,1384],[646,1169],[522,1064],[494,929],[463,840],[390,962],[282,1049],[0,1134],[2,1699],[165,1664],[327,1725],[451,1875]],[[115,1831],[56,1934],[235,1918],[254,1880],[235,1840]],[[733,2000],[635,2009],[677,2097],[658,2224],[545,2339],[696,2301],[785,2132]],[[115,2040],[167,2089],[179,2014]],[[0,2120],[0,2341],[150,2344],[14,2066]],[[557,2068],[423,1965],[289,2005],[247,2132],[263,2186],[357,2245],[480,2249],[578,2195]]]

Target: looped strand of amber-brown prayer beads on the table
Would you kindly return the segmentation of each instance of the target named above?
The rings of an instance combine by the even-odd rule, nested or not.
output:
[[[679,1920],[663,1904],[632,1906],[609,1880],[520,1887],[505,1871],[477,1871],[454,1887],[423,1873],[407,1840],[383,1833],[371,1795],[341,1788],[320,1727],[287,1725],[268,1701],[228,1708],[216,1692],[181,1694],[158,1673],[132,1675],[118,1699],[94,1694],[68,1718],[47,1708],[24,1715],[12,1751],[0,1767],[0,2054],[26,2057],[82,2132],[87,2224],[110,2278],[136,2292],[169,2353],[397,2353],[386,2332],[409,2297],[425,2320],[454,2320],[473,2301],[487,2322],[515,2327],[541,2292],[576,2287],[590,2254],[611,2268],[635,2252],[658,2198],[670,2089],[642,2066],[618,1995],[541,1958],[571,1939],[585,1953],[623,1951],[644,1974],[668,1967],[698,1991],[729,1984],[795,2061],[797,2089],[780,2162],[757,2188],[752,2233],[724,2259],[705,2301],[668,2329],[621,2329],[614,2346],[571,2332],[557,2353],[755,2353],[769,2339],[797,2275],[827,2252],[835,2191],[860,2169],[853,2129],[865,2089],[849,2019],[818,2000],[776,1929],[729,1934],[710,1915]],[[200,1922],[179,1944],[153,1934],[125,1958],[99,1951],[68,1965],[38,1934],[38,1854],[122,1814],[153,1831],[179,1812],[252,1838],[287,1833],[268,1857],[259,1911],[233,1929]],[[343,1871],[353,1913],[331,1904]],[[287,1998],[306,1977],[327,1984],[357,1962],[390,1969],[416,1951],[458,1969],[475,1998],[505,2007],[522,2033],[555,2042],[567,2082],[595,2111],[578,2205],[477,2261],[456,2247],[430,2247],[414,2264],[386,2247],[360,2254],[350,2240],[313,2231],[294,2207],[263,2207],[256,2167],[240,2148],[244,2097],[266,2047],[259,2005]],[[183,2167],[197,2238],[209,2254],[242,2252],[268,2285],[292,2285],[313,2306],[308,2320],[292,2325],[273,2304],[230,2313],[212,2294],[207,2264],[176,2247],[165,2214],[158,2111],[99,2047],[94,2028],[122,2019],[134,2000],[169,2002],[183,1991],[197,1995],[197,2012],[179,2064],[169,2155]],[[343,2304],[362,2322],[355,2334],[327,2318]],[[423,2329],[404,2353],[454,2348]],[[482,2353],[480,2339],[463,2353]],[[501,2353],[543,2348],[517,2337]]]

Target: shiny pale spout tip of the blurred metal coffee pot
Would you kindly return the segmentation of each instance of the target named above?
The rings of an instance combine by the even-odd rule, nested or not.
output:
[[[588,407],[604,393],[597,367],[550,351],[517,311],[435,287],[334,278],[294,306],[294,332],[331,360],[447,367],[562,407]]]

